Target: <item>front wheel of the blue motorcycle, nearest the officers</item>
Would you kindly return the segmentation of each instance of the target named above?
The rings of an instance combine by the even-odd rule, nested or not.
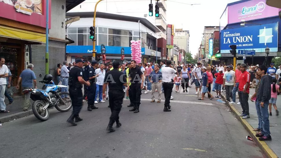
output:
[[[59,98],[58,102],[56,103],[55,107],[58,111],[61,112],[66,112],[69,111],[72,108],[72,103],[71,103],[71,99],[70,99],[70,95],[67,92],[61,92],[59,93],[59,96],[63,95],[63,101],[65,102],[65,104],[61,101],[61,99]]]

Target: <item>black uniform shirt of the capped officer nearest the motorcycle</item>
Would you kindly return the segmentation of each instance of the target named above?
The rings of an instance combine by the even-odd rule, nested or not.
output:
[[[74,66],[70,71],[69,71],[69,88],[82,88],[82,84],[79,82],[78,77],[83,77],[83,71],[80,67]]]

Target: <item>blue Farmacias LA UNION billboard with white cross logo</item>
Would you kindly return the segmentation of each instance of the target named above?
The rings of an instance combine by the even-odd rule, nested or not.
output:
[[[220,34],[220,53],[230,53],[229,45],[236,45],[237,49],[265,52],[278,51],[278,23],[239,27],[222,30]]]

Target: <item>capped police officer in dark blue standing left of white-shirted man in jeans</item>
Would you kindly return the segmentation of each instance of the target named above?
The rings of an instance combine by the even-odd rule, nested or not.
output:
[[[91,63],[91,67],[88,70],[88,76],[89,76],[89,81],[91,83],[91,86],[88,87],[88,111],[92,111],[92,109],[98,109],[94,105],[95,103],[95,96],[96,96],[96,77],[98,77],[98,74],[96,75],[95,68],[96,68],[96,60],[93,60]]]

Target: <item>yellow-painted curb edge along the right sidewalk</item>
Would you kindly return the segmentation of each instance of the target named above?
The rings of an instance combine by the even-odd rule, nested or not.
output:
[[[222,99],[226,100],[225,95],[222,95]],[[238,110],[232,106],[232,104],[229,103],[225,103],[227,104],[227,106],[231,109],[231,111],[234,113],[235,117],[241,122],[241,124],[244,126],[244,128],[248,131],[248,133],[250,134],[251,138],[253,139],[253,141],[258,145],[258,147],[260,148],[260,150],[262,150],[262,153],[266,156],[266,157],[270,157],[270,158],[278,158],[278,156],[274,153],[274,151],[267,145],[266,142],[264,141],[260,141],[257,137],[256,137],[256,132],[253,131],[253,127],[245,120],[242,119],[242,117],[240,117],[240,113],[238,112]]]

